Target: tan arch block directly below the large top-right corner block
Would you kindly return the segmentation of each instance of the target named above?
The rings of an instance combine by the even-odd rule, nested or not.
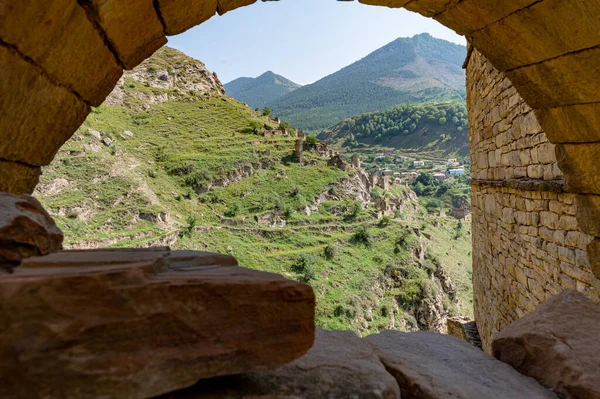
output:
[[[597,47],[507,71],[506,76],[534,109],[600,102],[599,57]]]

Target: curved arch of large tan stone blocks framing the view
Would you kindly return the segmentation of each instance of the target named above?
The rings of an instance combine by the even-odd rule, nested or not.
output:
[[[0,191],[32,192],[40,167],[104,101],[123,69],[149,57],[166,36],[256,1],[2,2]],[[359,1],[439,21],[510,79],[557,145],[580,227],[600,237],[600,0]],[[600,276],[598,243],[589,254]]]

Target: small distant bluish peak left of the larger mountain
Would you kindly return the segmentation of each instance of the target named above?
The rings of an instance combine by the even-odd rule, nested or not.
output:
[[[302,86],[271,71],[257,78],[238,78],[225,84],[227,95],[252,108],[261,109],[300,87]]]

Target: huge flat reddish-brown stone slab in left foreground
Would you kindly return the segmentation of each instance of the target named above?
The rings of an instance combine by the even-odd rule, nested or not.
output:
[[[314,294],[202,252],[75,251],[0,275],[0,397],[147,398],[276,368],[314,338]]]

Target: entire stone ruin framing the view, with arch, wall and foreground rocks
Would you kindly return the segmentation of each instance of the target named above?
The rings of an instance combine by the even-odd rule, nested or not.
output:
[[[600,1],[360,1],[432,17],[472,46],[475,318],[484,350],[539,383],[460,341],[315,333],[310,287],[229,256],[156,248],[27,258],[57,251],[60,238],[22,195],[123,69],[166,36],[256,0],[7,0],[0,191],[14,195],[0,199],[0,257],[20,265],[0,275],[0,397],[153,397],[266,369],[275,370],[236,377],[228,392],[275,396],[285,379],[306,397],[556,397],[543,386],[600,397]],[[550,333],[539,347],[515,326]],[[439,348],[455,363],[443,368]],[[331,375],[314,371],[324,365]],[[185,397],[223,397],[217,385]]]

